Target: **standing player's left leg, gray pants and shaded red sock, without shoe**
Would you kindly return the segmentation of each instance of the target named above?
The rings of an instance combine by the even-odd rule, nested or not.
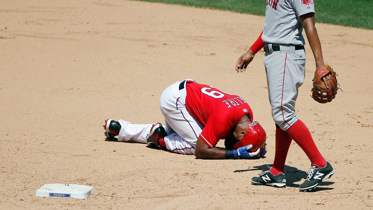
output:
[[[275,160],[270,169],[273,175],[284,174],[285,161],[292,140],[286,130],[298,120],[295,114],[295,100],[298,96],[298,87],[304,80],[305,53],[303,50],[297,51],[298,53],[295,53],[295,49],[288,53],[266,53],[264,58],[269,101],[272,106],[272,117],[276,122]],[[297,61],[293,61],[293,54],[296,54]],[[296,70],[293,62],[297,62]]]

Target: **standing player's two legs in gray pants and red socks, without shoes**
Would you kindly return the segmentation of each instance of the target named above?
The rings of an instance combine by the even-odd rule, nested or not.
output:
[[[319,168],[326,167],[326,161],[317,149],[309,130],[295,114],[298,88],[303,84],[305,74],[304,50],[266,53],[264,65],[273,119],[278,127],[287,133],[276,129],[275,161],[269,172],[274,178],[283,174],[291,139],[303,149],[311,164],[318,164]],[[259,180],[255,178],[253,179]]]

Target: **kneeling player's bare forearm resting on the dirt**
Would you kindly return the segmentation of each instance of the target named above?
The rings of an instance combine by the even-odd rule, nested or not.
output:
[[[223,150],[216,147],[210,148],[198,137],[197,146],[195,147],[195,157],[198,159],[231,159],[233,158],[232,150]]]

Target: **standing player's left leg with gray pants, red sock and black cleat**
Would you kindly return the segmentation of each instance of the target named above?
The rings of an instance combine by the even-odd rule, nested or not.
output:
[[[303,78],[300,78],[302,75],[298,77],[291,75],[287,69],[289,67],[286,68],[286,64],[289,66],[288,61],[291,59],[288,55],[294,52],[267,52],[264,56],[269,102],[272,106],[273,119],[276,122],[276,149],[272,167],[261,173],[259,177],[253,177],[251,182],[254,185],[286,186],[284,166],[292,141],[286,129],[298,120],[298,116],[294,113],[295,99],[298,96],[298,87],[303,83]],[[305,59],[305,55],[302,57]],[[294,87],[292,90],[286,89],[288,87],[284,85],[290,83],[292,86],[296,84],[298,87]]]

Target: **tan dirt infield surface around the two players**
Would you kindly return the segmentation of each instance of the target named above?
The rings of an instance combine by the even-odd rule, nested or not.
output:
[[[250,184],[275,155],[264,52],[244,73],[234,66],[264,17],[139,1],[35,0],[2,1],[0,19],[1,209],[373,208],[372,30],[316,25],[344,90],[328,104],[310,97],[315,66],[306,46],[297,113],[336,173],[305,193],[298,186],[310,162],[294,142],[286,188]],[[185,78],[244,98],[267,132],[267,157],[197,160],[105,140],[106,118],[163,122],[160,94]],[[91,185],[94,194],[35,197],[46,183]]]

